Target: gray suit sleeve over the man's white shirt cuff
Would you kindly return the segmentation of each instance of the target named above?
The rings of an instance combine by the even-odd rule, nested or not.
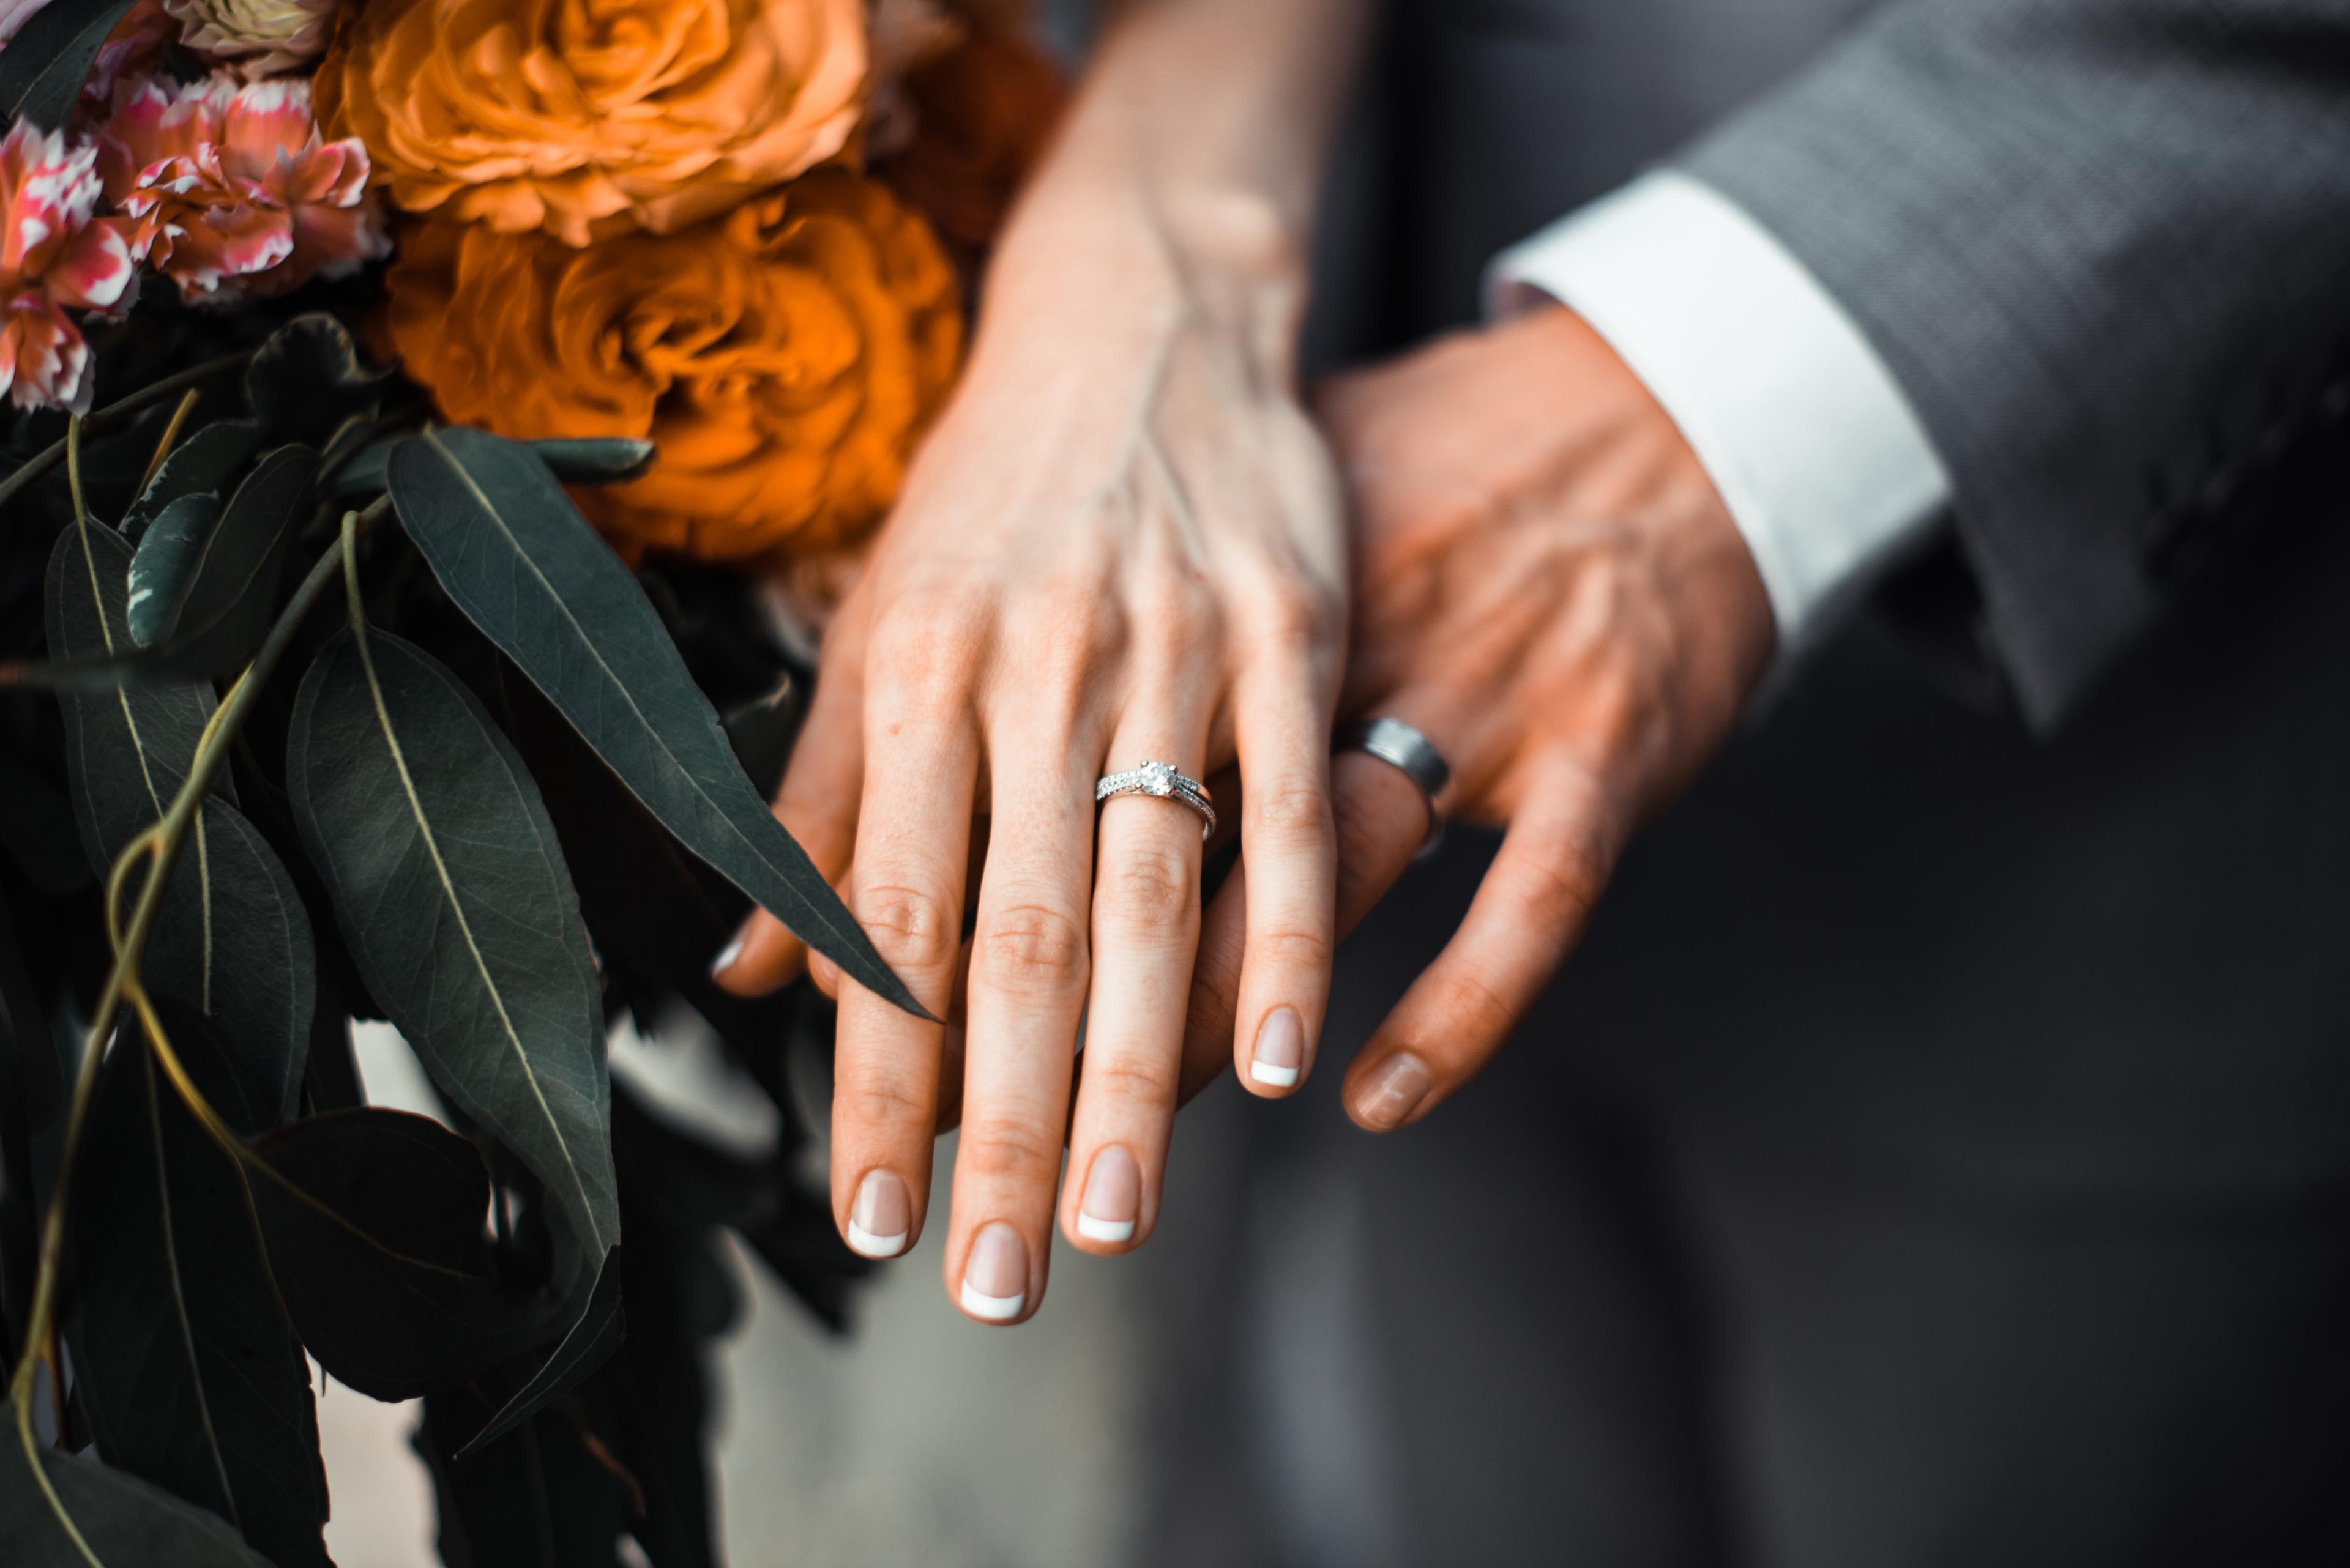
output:
[[[1899,0],[1680,167],[1849,310],[2059,724],[2350,411],[2350,0]]]

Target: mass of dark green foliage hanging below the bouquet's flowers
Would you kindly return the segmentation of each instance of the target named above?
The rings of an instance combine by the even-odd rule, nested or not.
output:
[[[61,52],[103,14],[35,26]],[[0,1561],[324,1563],[308,1352],[425,1401],[444,1561],[616,1563],[627,1535],[705,1568],[721,1234],[834,1324],[867,1267],[792,1175],[783,1053],[830,1013],[705,966],[757,896],[902,987],[761,804],[806,670],[752,585],[632,576],[562,489],[644,444],[428,425],[338,289],[101,334],[134,407],[80,430],[82,512],[63,421],[0,421],[0,1349],[47,1349],[40,1321],[70,1349],[40,1410],[63,1441],[0,1439]],[[183,388],[141,400],[132,367],[207,367],[162,461]],[[106,884],[134,922],[150,865],[122,860],[157,832],[176,860],[89,1058],[40,1319],[82,1034],[113,1009]],[[613,1088],[609,1023],[679,1004],[776,1098],[771,1154]],[[364,1105],[352,1018],[400,1027],[454,1131]]]

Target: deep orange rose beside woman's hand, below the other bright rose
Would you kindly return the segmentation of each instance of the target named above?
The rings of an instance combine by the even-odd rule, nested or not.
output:
[[[656,442],[644,477],[578,494],[630,555],[855,541],[898,496],[964,348],[938,237],[846,169],[588,249],[435,219],[402,237],[388,292],[392,348],[449,418]]]

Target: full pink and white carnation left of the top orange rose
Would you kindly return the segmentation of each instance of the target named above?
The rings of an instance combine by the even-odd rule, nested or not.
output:
[[[134,244],[188,301],[284,294],[392,249],[367,148],[320,136],[306,80],[127,80],[99,132],[99,172]]]

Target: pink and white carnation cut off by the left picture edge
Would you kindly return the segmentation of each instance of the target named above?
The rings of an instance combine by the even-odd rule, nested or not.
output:
[[[129,306],[139,275],[96,209],[96,148],[19,120],[0,141],[0,388],[19,409],[89,409],[89,343],[68,310]]]

